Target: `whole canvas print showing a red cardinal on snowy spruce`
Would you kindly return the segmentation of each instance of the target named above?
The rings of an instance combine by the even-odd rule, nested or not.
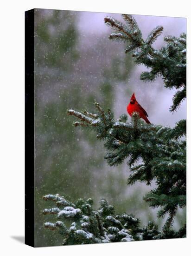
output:
[[[186,237],[186,19],[32,12],[26,238],[40,247]]]

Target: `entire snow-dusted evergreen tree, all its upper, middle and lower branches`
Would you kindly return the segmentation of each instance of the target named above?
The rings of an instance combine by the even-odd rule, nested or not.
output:
[[[171,112],[177,111],[186,98],[186,35],[181,34],[178,38],[166,36],[164,39],[166,46],[155,50],[152,44],[162,33],[163,27],[154,28],[146,40],[143,40],[136,20],[127,14],[123,14],[122,17],[125,24],[111,17],[105,18],[105,23],[115,30],[115,33],[110,34],[109,39],[127,42],[125,52],[132,52],[136,64],[144,64],[150,68],[149,72],[141,74],[141,80],[154,81],[160,76],[166,88],[177,89],[170,108]],[[64,203],[64,209],[62,207],[62,209],[44,210],[45,214],[54,213],[58,218],[62,216],[75,218],[75,224],[72,223],[70,227],[73,230],[72,234],[61,222],[45,223],[45,227],[56,229],[61,225],[65,230],[62,230],[64,239],[67,237],[65,244],[185,237],[186,226],[176,232],[172,229],[172,224],[178,208],[186,206],[186,120],[178,121],[174,128],[147,125],[135,112],[130,122],[127,120],[127,115],[121,115],[115,121],[110,109],[104,110],[97,102],[95,105],[95,113],[69,109],[67,114],[77,118],[74,126],[94,130],[97,138],[104,140],[104,146],[108,151],[105,159],[110,166],[119,165],[127,160],[132,172],[127,179],[128,184],[145,182],[146,185],[150,185],[153,181],[156,183],[156,188],[149,191],[144,196],[144,200],[152,208],[160,207],[158,217],[168,214],[166,223],[162,231],[158,230],[154,222],[149,222],[148,226],[140,228],[138,219],[130,224],[129,219],[135,220],[134,216],[126,215],[127,218],[123,219],[124,215],[115,215],[113,207],[108,206],[104,200],[101,201],[101,208],[97,211],[92,210],[92,203],[89,201],[82,200],[80,204],[80,200],[75,204]],[[64,200],[55,198],[54,195],[47,195],[44,198],[52,199],[58,205],[60,205],[59,201]],[[83,219],[84,215],[91,221],[85,217],[88,224],[83,227],[83,222],[86,222],[86,219]],[[89,238],[91,240],[88,240]]]

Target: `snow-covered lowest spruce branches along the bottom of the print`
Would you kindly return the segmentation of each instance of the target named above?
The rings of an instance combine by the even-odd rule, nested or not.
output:
[[[115,209],[105,199],[98,210],[93,209],[93,200],[79,199],[75,203],[60,195],[45,195],[45,200],[55,202],[56,207],[44,209],[44,215],[54,215],[56,222],[45,222],[46,229],[64,237],[63,245],[85,243],[130,242],[185,236],[185,228],[178,232],[168,229],[159,231],[154,222],[140,227],[140,220],[132,214],[115,214]]]

